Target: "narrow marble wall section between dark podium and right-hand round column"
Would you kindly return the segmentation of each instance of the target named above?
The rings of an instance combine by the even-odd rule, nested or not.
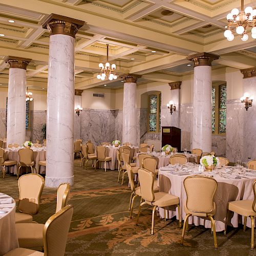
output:
[[[181,150],[192,149],[193,103],[180,104]]]

